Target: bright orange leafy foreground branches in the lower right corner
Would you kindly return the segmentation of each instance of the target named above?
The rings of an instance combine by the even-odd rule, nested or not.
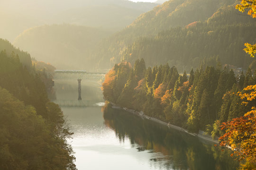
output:
[[[256,85],[247,86],[238,95],[241,99],[246,99],[242,103],[251,105],[252,110],[240,118],[222,124],[221,129],[225,129],[226,133],[219,137],[222,140],[220,145],[230,145],[239,160],[245,160],[245,163],[240,164],[241,170],[256,170]]]

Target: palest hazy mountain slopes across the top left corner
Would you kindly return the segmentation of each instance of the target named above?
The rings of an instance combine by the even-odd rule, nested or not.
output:
[[[120,30],[156,5],[128,0],[4,0],[0,37],[12,42],[31,27],[63,23]]]

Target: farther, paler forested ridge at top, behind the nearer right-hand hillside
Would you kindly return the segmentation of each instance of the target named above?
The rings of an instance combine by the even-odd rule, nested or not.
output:
[[[195,21],[205,21],[223,5],[233,3],[233,0],[168,0],[141,14],[125,32],[140,36],[155,35],[176,26],[183,27]]]

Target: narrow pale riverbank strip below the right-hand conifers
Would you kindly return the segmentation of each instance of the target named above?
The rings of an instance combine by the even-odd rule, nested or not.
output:
[[[170,123],[166,123],[166,122],[164,122],[164,121],[162,121],[162,120],[159,120],[159,119],[156,119],[156,118],[153,118],[153,117],[149,117],[149,116],[145,115],[145,114],[143,113],[143,111],[138,112],[138,111],[136,111],[136,110],[132,110],[132,109],[128,109],[128,108],[126,108],[126,107],[122,107],[122,106],[116,105],[115,103],[112,103],[112,102],[110,102],[110,104],[112,105],[111,107],[112,107],[113,109],[122,109],[122,110],[126,110],[127,112],[132,113],[132,114],[135,114],[135,115],[137,115],[137,116],[139,116],[139,117],[141,117],[141,118],[143,118],[143,119],[149,119],[149,120],[155,121],[155,122],[157,122],[157,123],[160,123],[160,124],[162,124],[162,125],[166,125],[166,126],[168,126],[168,127],[174,128],[174,129],[176,129],[176,130],[183,131],[183,132],[185,132],[185,133],[187,133],[187,134],[189,134],[189,135],[197,136],[197,137],[199,137],[200,139],[203,139],[203,140],[205,140],[205,141],[208,141],[208,142],[211,142],[211,143],[214,143],[214,144],[219,144],[219,141],[218,141],[218,140],[212,140],[212,138],[210,138],[210,137],[208,137],[208,136],[203,136],[203,135],[201,135],[201,134],[199,134],[199,133],[197,133],[197,134],[196,134],[196,133],[190,133],[187,129],[184,129],[184,128],[182,128],[182,127],[178,127],[178,126],[176,126],[176,125],[172,125],[172,124],[170,124]]]

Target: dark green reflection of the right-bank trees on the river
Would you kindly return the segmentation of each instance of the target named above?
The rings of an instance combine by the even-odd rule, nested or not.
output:
[[[165,169],[178,170],[234,170],[238,162],[229,156],[230,151],[220,151],[213,144],[204,143],[184,132],[141,119],[111,105],[103,108],[106,126],[113,129],[120,142],[126,137],[131,144],[139,144],[138,151],[151,150],[163,156],[151,159],[164,161]]]

